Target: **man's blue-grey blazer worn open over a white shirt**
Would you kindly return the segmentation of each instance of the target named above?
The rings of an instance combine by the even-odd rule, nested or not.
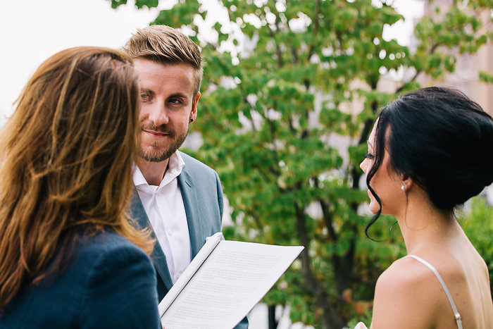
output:
[[[182,193],[183,204],[185,205],[185,213],[187,214],[193,258],[206,243],[206,237],[210,237],[221,230],[223,189],[216,171],[192,158],[192,156],[183,152],[180,152],[180,155],[185,161],[185,167],[183,167],[182,173],[178,175],[177,179]],[[149,217],[147,217],[137,190],[134,191],[132,197],[130,216],[137,220],[139,228],[150,228],[152,231]],[[154,231],[152,231],[152,237],[156,239]],[[156,268],[158,298],[161,301],[173,285],[173,280],[171,280],[168,263],[166,263],[166,256],[157,239],[151,259]],[[247,327],[248,322],[244,318],[235,328]]]

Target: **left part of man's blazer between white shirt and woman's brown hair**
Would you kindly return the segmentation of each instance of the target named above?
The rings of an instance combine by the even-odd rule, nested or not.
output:
[[[132,205],[130,206],[130,216],[132,216],[136,222],[132,223],[132,225],[140,229],[149,228],[151,230],[151,237],[156,241],[154,243],[154,249],[152,250],[151,259],[154,263],[154,267],[156,267],[158,275],[161,277],[161,280],[163,280],[164,285],[168,290],[170,290],[173,285],[173,280],[171,280],[168,263],[166,263],[166,255],[161,248],[161,244],[158,242],[156,233],[154,233],[154,230],[152,229],[151,222],[149,222],[149,217],[147,217],[147,213],[142,205],[142,201],[140,201],[139,194],[137,193],[137,189],[135,189],[135,187],[132,195]]]

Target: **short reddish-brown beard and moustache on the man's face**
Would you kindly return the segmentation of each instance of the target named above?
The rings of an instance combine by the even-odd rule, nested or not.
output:
[[[168,133],[168,136],[171,139],[171,142],[169,144],[163,145],[160,142],[154,141],[150,144],[151,150],[141,151],[140,158],[144,161],[149,161],[149,162],[161,162],[165,161],[166,159],[169,159],[170,156],[175,153],[177,149],[179,149],[183,142],[185,142],[185,139],[187,138],[188,135],[188,126],[187,130],[183,132],[182,134],[177,134],[175,130],[170,130],[166,128],[166,126],[161,125],[159,127],[155,125],[142,125],[142,130],[155,130],[155,131],[160,131],[160,132],[166,132]]]

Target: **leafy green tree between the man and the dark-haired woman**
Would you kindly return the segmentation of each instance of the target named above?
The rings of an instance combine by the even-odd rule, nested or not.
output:
[[[201,2],[180,0],[152,23],[183,28],[206,59],[193,127],[204,144],[195,155],[223,181],[237,224],[227,237],[305,247],[264,299],[289,305],[292,321],[342,328],[368,317],[377,276],[404,254],[397,225],[388,229],[392,218],[370,231],[379,244],[364,236],[368,216],[358,213],[368,198],[358,164],[375,113],[416,89],[419,75],[453,71],[447,49],[474,53],[493,40],[474,12],[493,1],[471,0],[468,11],[454,4],[440,20],[421,20],[411,52],[382,37],[403,19],[391,4],[223,0],[225,18],[216,17],[211,34]],[[397,70],[411,77],[384,89]]]

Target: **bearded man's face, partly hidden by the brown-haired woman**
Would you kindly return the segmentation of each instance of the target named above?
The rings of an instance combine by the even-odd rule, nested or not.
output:
[[[190,119],[196,118],[200,93],[194,97],[194,68],[144,58],[136,58],[134,67],[141,86],[141,158],[165,161],[185,141]]]

